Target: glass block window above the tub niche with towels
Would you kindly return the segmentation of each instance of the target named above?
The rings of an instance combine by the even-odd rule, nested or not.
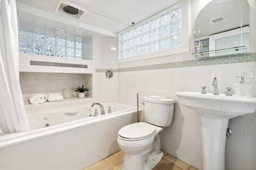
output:
[[[82,55],[82,37],[74,40],[19,30],[19,51],[37,55],[88,59]]]

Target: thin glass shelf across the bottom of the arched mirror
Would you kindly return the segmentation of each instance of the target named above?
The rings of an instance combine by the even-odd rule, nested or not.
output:
[[[246,53],[248,49],[245,46],[240,47],[232,47],[227,49],[219,49],[219,50],[212,50],[212,51],[205,51],[200,53],[192,53],[195,58],[204,58],[204,57],[217,57],[221,55],[232,55],[238,53]]]

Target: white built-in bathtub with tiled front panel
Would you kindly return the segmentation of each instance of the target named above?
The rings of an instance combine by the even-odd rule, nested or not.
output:
[[[0,136],[1,168],[80,170],[114,154],[118,131],[137,121],[137,108],[102,105],[106,115],[94,105],[97,117],[90,105],[29,113],[30,131]]]

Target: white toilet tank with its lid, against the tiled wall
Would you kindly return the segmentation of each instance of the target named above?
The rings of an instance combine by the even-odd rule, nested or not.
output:
[[[160,127],[172,124],[175,99],[158,96],[142,97],[144,102],[144,116],[148,123]]]

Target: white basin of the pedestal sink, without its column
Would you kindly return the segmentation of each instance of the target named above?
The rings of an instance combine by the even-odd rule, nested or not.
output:
[[[200,92],[176,92],[180,103],[199,115],[214,119],[233,118],[256,110],[256,98],[213,95]]]

